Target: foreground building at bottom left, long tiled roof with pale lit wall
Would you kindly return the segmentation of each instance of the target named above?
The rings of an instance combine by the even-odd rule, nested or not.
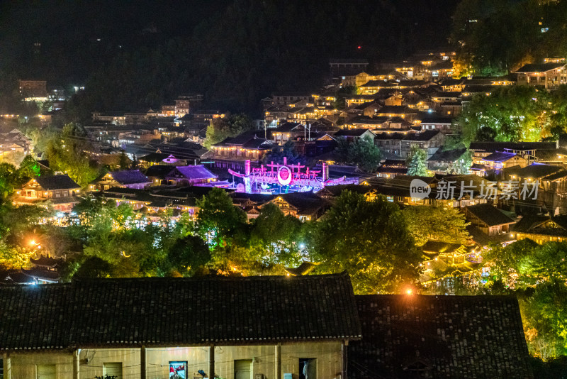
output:
[[[345,378],[361,337],[346,274],[4,286],[0,302],[4,379]]]

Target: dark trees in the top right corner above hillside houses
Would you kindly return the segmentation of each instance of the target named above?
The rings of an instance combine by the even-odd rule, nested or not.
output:
[[[453,16],[455,76],[498,76],[566,55],[565,1],[461,1]],[[498,36],[498,38],[495,38]]]

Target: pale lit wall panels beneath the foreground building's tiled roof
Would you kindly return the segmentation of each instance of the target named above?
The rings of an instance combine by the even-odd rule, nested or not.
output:
[[[234,378],[235,360],[252,361],[252,378],[263,374],[265,379],[275,379],[276,348],[266,346],[215,346],[215,373],[223,379]],[[317,360],[317,378],[339,378],[342,370],[340,342],[301,342],[281,345],[281,378],[283,373],[299,376],[299,359]],[[48,353],[12,352],[11,379],[37,378],[37,365],[55,364],[57,379],[73,378],[73,352]],[[146,348],[146,379],[169,378],[170,361],[187,361],[187,378],[201,377],[198,370],[208,374],[208,347]],[[103,374],[103,364],[121,362],[123,379],[141,378],[140,348],[82,349],[79,353],[79,372],[82,379],[93,379]],[[6,362],[5,362],[6,363]],[[7,376],[5,376],[7,378]]]

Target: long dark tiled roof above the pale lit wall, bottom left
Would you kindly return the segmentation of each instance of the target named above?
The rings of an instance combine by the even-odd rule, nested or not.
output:
[[[0,350],[359,338],[346,273],[0,287]]]

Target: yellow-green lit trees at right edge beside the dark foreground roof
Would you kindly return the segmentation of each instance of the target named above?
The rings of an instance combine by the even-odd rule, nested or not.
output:
[[[522,240],[493,246],[488,288],[503,283],[520,299],[529,350],[544,361],[567,355],[567,243]]]

